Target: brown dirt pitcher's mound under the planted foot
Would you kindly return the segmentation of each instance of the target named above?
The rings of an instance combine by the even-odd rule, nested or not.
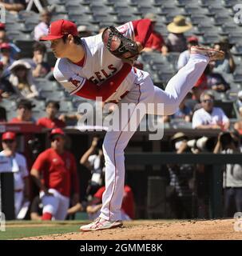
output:
[[[125,222],[121,228],[99,230],[95,232],[72,232],[50,234],[39,237],[23,238],[26,240],[196,240],[229,239],[241,240],[242,231],[234,231],[234,219],[212,221],[133,221]]]

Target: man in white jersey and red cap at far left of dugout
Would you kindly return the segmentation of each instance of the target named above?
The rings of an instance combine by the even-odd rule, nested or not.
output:
[[[29,201],[29,171],[26,158],[16,152],[16,134],[10,131],[2,134],[2,151],[0,157],[8,158],[10,171],[14,173],[14,208],[15,217],[22,209],[24,202]]]

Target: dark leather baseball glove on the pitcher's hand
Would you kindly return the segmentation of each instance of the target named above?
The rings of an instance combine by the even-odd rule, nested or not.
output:
[[[137,43],[125,38],[114,26],[107,27],[102,33],[102,42],[111,54],[124,62],[134,62],[139,53]]]

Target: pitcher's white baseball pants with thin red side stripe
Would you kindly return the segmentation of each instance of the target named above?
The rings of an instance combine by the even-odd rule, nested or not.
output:
[[[142,117],[134,114],[140,104],[164,103],[164,112],[156,113],[174,114],[188,91],[192,89],[201,74],[204,72],[209,59],[201,54],[191,54],[186,66],[181,68],[173,78],[169,80],[164,90],[153,85],[151,78],[146,77],[129,91],[129,94],[118,103],[116,111],[121,111],[122,103],[133,103],[133,109],[129,114],[120,114],[121,130],[108,131],[103,142],[105,155],[105,192],[102,196],[101,218],[115,221],[121,219],[121,203],[125,182],[125,156],[124,150],[129,139],[135,133],[127,130],[127,126],[133,124],[137,127]],[[150,113],[149,113],[150,114]],[[143,114],[144,116],[144,114]],[[138,120],[137,120],[138,119]]]

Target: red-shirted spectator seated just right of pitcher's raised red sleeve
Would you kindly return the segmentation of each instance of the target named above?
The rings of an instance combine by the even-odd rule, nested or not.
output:
[[[149,18],[152,24],[152,32],[149,36],[148,41],[145,44],[145,48],[143,51],[153,51],[157,50],[161,52],[162,46],[165,45],[165,41],[162,38],[161,33],[155,30],[155,26],[157,23],[157,15],[156,14],[146,14],[145,18]]]

